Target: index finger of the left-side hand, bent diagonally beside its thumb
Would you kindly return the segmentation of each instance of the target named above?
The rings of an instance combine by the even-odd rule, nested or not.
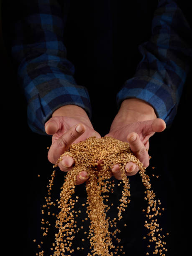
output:
[[[72,126],[69,131],[64,133],[58,140],[54,141],[48,152],[49,161],[53,164],[56,163],[61,154],[63,154],[84,131],[85,126],[79,123]]]

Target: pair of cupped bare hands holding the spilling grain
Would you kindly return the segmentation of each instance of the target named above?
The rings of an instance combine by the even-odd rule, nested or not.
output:
[[[157,118],[154,109],[147,102],[139,99],[126,99],[122,102],[120,110],[115,116],[110,131],[104,137],[113,137],[120,141],[129,143],[133,154],[143,163],[144,167],[149,165],[149,138],[155,132],[164,131],[166,124],[161,118]],[[77,105],[65,105],[54,111],[52,118],[45,123],[45,131],[52,135],[52,144],[48,151],[48,159],[52,164],[60,158],[67,149],[79,141],[95,136],[101,138],[94,130],[87,113]],[[97,168],[101,169],[102,161],[97,160]],[[71,156],[63,156],[59,161],[59,169],[69,172],[74,166]],[[125,165],[127,176],[135,175],[138,166],[133,162]],[[111,168],[111,176],[121,179],[118,163]],[[82,184],[88,179],[84,170],[77,175],[76,184]]]

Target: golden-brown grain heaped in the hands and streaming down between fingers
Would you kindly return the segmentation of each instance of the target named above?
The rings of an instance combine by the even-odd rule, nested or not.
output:
[[[90,240],[90,248],[92,249],[90,255],[102,255],[102,256],[112,256],[125,254],[123,251],[123,246],[113,245],[113,238],[116,238],[116,234],[120,233],[120,230],[116,228],[114,232],[109,232],[110,227],[116,227],[116,220],[121,220],[122,212],[125,211],[125,208],[130,202],[130,184],[129,179],[125,174],[125,165],[127,162],[133,162],[139,166],[140,175],[142,178],[143,185],[146,188],[145,191],[145,200],[148,200],[148,206],[146,209],[146,218],[148,221],[145,221],[145,227],[148,229],[147,238],[151,245],[154,246],[153,254],[159,254],[165,256],[164,252],[167,251],[164,248],[166,244],[162,241],[164,236],[161,236],[159,233],[159,224],[157,223],[156,216],[161,215],[160,210],[160,200],[155,200],[155,194],[151,189],[149,176],[146,175],[145,168],[143,164],[134,156],[130,146],[127,142],[123,142],[111,137],[105,138],[96,138],[90,137],[85,141],[80,141],[79,143],[74,143],[70,148],[61,155],[58,159],[56,167],[61,161],[63,156],[71,156],[74,159],[74,166],[65,176],[65,182],[61,187],[60,200],[59,204],[59,215],[56,220],[56,228],[58,228],[58,233],[55,234],[55,243],[51,250],[53,255],[71,255],[74,249],[71,249],[72,241],[75,238],[75,233],[79,231],[77,229],[77,221],[74,220],[78,216],[78,212],[74,211],[74,205],[78,202],[79,197],[76,197],[76,200],[72,199],[72,194],[75,193],[75,182],[77,175],[86,171],[88,174],[88,179],[86,181],[86,190],[87,190],[87,215],[90,218],[90,232],[87,238]],[[97,169],[97,160],[102,161],[102,168]],[[109,195],[102,195],[105,192],[113,193],[113,187],[115,186],[114,181],[109,180],[111,177],[111,168],[113,165],[119,164],[120,172],[122,177],[123,189],[122,196],[120,199],[120,205],[118,206],[118,216],[113,220],[106,218],[106,212],[110,210],[110,206],[104,203],[108,201]],[[51,186],[53,185],[53,179],[55,176],[55,171],[51,175],[52,179],[49,180],[49,195],[51,195]],[[43,207],[48,207],[49,205],[54,204],[51,202],[51,197],[46,198],[47,205]],[[84,204],[82,205],[84,206]],[[85,208],[82,207],[82,211]],[[79,210],[79,213],[81,212]],[[164,210],[164,209],[162,209]],[[43,210],[44,211],[44,210]],[[145,210],[143,210],[144,212]],[[42,212],[44,213],[44,212]],[[48,213],[50,215],[50,212]],[[43,219],[44,220],[44,219]],[[87,220],[87,218],[85,218]],[[81,227],[83,229],[83,226]],[[49,228],[46,228],[44,236],[47,235]],[[84,232],[86,234],[86,232]],[[144,239],[146,237],[143,237]],[[84,240],[84,239],[83,239]],[[120,239],[116,238],[118,243]],[[41,246],[39,246],[40,248]],[[150,247],[150,245],[148,245]],[[77,250],[83,249],[78,247]],[[81,253],[80,253],[81,254]],[[79,254],[79,255],[80,255]],[[128,254],[128,252],[127,252]],[[149,255],[148,252],[145,253]],[[36,255],[44,255],[44,251],[36,253]],[[51,255],[52,256],[52,255]]]

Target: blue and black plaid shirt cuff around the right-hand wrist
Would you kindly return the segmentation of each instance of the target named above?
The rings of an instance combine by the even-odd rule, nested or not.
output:
[[[137,98],[148,102],[155,110],[157,118],[172,123],[177,113],[176,96],[171,88],[162,81],[143,76],[128,79],[116,96],[118,110],[123,100]]]

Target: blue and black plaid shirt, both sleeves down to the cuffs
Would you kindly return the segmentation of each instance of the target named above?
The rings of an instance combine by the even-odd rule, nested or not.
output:
[[[64,46],[70,0],[21,2],[21,15],[13,24],[12,54],[28,102],[28,125],[45,134],[44,123],[68,104],[80,106],[91,119],[88,90],[75,81]],[[142,59],[117,93],[118,109],[123,100],[138,98],[153,106],[167,125],[172,123],[189,72],[191,47],[192,31],[177,1],[159,0],[151,37],[138,46]]]

